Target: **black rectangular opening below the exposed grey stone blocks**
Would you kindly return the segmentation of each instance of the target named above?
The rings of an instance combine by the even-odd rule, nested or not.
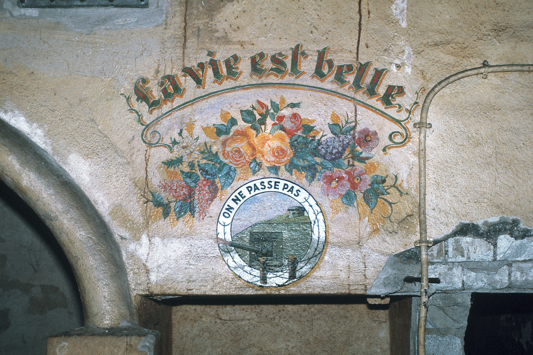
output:
[[[466,355],[533,354],[533,294],[473,293]]]

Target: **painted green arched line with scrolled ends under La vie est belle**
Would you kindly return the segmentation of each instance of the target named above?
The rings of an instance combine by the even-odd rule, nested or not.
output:
[[[239,86],[233,86],[228,87],[223,90],[214,91],[205,95],[198,96],[195,99],[189,100],[187,102],[183,102],[179,104],[178,106],[166,111],[163,115],[158,116],[154,120],[152,120],[150,123],[144,126],[142,132],[141,132],[141,139],[144,144],[146,144],[148,147],[166,147],[169,151],[173,150],[173,147],[170,144],[162,143],[162,135],[159,131],[153,130],[150,131],[150,127],[154,126],[156,123],[158,123],[160,120],[163,120],[167,118],[168,116],[172,115],[174,112],[183,110],[184,108],[187,108],[189,106],[192,106],[193,104],[204,101],[207,99],[214,98],[215,96],[223,95],[230,92],[236,92],[241,90],[249,90],[253,88],[288,88],[288,89],[295,89],[295,90],[309,90],[309,91],[315,91],[324,93],[327,95],[335,96],[336,98],[343,99],[346,101],[350,101],[354,104],[357,104],[361,107],[364,107],[372,112],[375,112],[375,114],[389,120],[390,122],[397,125],[401,131],[394,131],[389,134],[389,141],[392,144],[387,144],[385,147],[383,147],[383,153],[387,154],[387,150],[392,148],[400,148],[405,146],[409,140],[411,139],[409,128],[405,125],[407,121],[410,119],[410,115],[407,116],[407,118],[400,120],[398,118],[394,118],[391,115],[387,114],[385,111],[380,110],[364,101],[358,100],[350,95],[342,94],[333,90],[328,90],[326,88],[318,87],[318,86],[311,86],[311,85],[304,85],[304,84],[279,84],[279,83],[256,83],[256,84],[247,84],[247,85],[239,85]],[[149,141],[149,135],[150,137],[157,136],[157,139],[155,141]],[[396,140],[395,138],[400,137],[401,141]]]

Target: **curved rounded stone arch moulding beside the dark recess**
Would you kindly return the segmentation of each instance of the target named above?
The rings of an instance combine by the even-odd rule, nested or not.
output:
[[[0,179],[34,209],[67,255],[85,326],[136,324],[122,253],[109,226],[67,171],[3,120]]]

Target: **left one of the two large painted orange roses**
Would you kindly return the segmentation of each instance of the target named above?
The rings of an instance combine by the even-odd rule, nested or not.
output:
[[[220,154],[225,162],[236,168],[244,167],[257,156],[255,131],[250,127],[237,128],[220,140]]]

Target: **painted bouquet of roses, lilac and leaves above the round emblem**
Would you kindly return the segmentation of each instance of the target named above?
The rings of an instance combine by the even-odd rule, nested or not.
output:
[[[179,171],[173,180],[161,181],[158,191],[145,197],[154,207],[162,208],[166,219],[172,211],[179,220],[187,214],[204,219],[219,192],[224,192],[237,178],[246,180],[263,168],[273,175],[283,169],[289,175],[302,177],[311,185],[321,184],[321,191],[330,200],[356,207],[357,195],[368,206],[370,213],[379,200],[388,205],[389,219],[393,202],[392,191],[401,197],[398,176],[386,184],[388,176],[373,174],[376,164],[372,151],[378,146],[376,131],[358,128],[357,120],[341,118],[335,112],[328,123],[329,133],[316,129],[315,121],[302,118],[297,109],[301,102],[286,103],[270,100],[270,106],[260,100],[245,110],[240,119],[230,112],[221,111],[221,123],[201,127],[206,136],[216,143],[199,143],[193,129],[179,138],[171,139],[174,158],[161,162],[168,171]],[[189,127],[190,128],[190,127]],[[302,178],[302,180],[303,180]],[[380,209],[383,213],[383,209]]]

